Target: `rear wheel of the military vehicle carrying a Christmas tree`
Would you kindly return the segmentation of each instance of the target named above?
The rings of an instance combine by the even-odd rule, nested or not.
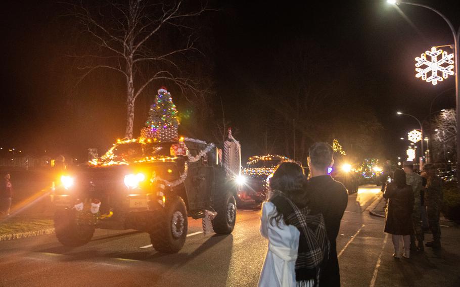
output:
[[[214,210],[217,212],[216,217],[212,220],[212,228],[217,234],[230,234],[235,228],[237,219],[237,203],[235,197],[226,192],[218,194],[214,198]]]

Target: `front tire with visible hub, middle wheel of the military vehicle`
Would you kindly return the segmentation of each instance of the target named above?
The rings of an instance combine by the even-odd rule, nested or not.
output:
[[[159,218],[153,219],[150,241],[158,252],[176,253],[186,242],[188,220],[186,204],[180,197],[167,199]]]

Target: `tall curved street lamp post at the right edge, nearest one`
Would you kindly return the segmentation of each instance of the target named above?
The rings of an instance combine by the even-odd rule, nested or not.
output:
[[[433,11],[434,13],[438,14],[439,16],[444,19],[444,21],[447,23],[447,25],[450,28],[450,31],[452,32],[453,36],[453,50],[454,50],[454,65],[455,65],[455,100],[456,100],[456,126],[460,127],[460,80],[458,79],[459,74],[460,74],[460,66],[458,65],[458,58],[459,58],[459,52],[458,52],[458,42],[460,41],[460,27],[458,28],[458,31],[455,31],[455,28],[453,27],[452,23],[447,19],[444,14],[439,12],[438,10],[431,8],[430,6],[423,5],[423,4],[418,4],[418,3],[411,3],[411,2],[404,2],[404,1],[396,1],[396,0],[387,0],[388,3],[390,4],[406,4],[406,5],[412,5],[412,6],[418,6],[418,7],[423,7],[426,9],[429,9]],[[457,179],[458,183],[460,184],[460,133],[457,132]],[[423,141],[422,141],[423,142]]]

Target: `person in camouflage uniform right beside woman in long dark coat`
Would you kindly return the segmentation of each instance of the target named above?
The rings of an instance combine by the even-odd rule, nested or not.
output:
[[[406,173],[406,183],[412,186],[412,193],[414,198],[413,211],[412,211],[412,224],[413,232],[410,234],[410,249],[424,251],[423,241],[424,233],[422,229],[421,218],[421,198],[420,190],[422,189],[422,177],[413,172],[413,163],[411,161],[404,161],[404,172]],[[416,247],[417,238],[417,247]]]

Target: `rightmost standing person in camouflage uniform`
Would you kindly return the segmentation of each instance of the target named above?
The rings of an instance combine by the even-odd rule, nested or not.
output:
[[[425,165],[425,170],[428,174],[425,201],[427,204],[428,224],[433,234],[433,241],[427,242],[426,246],[440,248],[441,227],[439,226],[439,214],[442,204],[442,180],[436,175],[436,169],[432,164]]]

